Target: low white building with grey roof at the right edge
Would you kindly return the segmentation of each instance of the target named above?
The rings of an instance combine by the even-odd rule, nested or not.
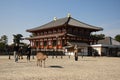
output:
[[[99,40],[98,44],[91,45],[91,47],[97,50],[100,56],[118,56],[120,52],[120,42],[111,37]]]

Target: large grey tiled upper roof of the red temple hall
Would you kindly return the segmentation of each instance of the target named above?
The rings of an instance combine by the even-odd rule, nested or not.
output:
[[[96,26],[92,26],[92,25],[80,22],[72,17],[65,17],[65,18],[53,20],[47,24],[38,26],[36,28],[28,29],[27,31],[28,32],[38,31],[41,29],[48,29],[48,28],[58,27],[58,26],[62,26],[62,25],[71,25],[71,26],[76,26],[76,27],[81,27],[81,28],[93,29],[96,31],[103,30],[103,28],[101,28],[101,27],[96,27]]]

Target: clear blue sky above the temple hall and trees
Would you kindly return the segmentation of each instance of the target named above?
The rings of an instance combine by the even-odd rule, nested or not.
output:
[[[82,22],[102,27],[100,33],[114,38],[120,34],[120,0],[0,0],[0,36],[28,37],[26,29],[43,25],[53,17],[70,13]]]

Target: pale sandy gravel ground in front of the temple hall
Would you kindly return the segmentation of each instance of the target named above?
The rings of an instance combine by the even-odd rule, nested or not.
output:
[[[74,57],[46,60],[46,67],[36,66],[36,59],[18,63],[13,56],[0,56],[0,80],[120,80],[120,57]]]

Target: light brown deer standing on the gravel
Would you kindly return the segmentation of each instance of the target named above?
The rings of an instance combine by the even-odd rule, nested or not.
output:
[[[45,60],[46,58],[48,58],[48,56],[42,52],[38,52],[36,54],[36,58],[37,58],[37,66],[42,67],[42,61],[44,61],[44,68],[45,68]]]

